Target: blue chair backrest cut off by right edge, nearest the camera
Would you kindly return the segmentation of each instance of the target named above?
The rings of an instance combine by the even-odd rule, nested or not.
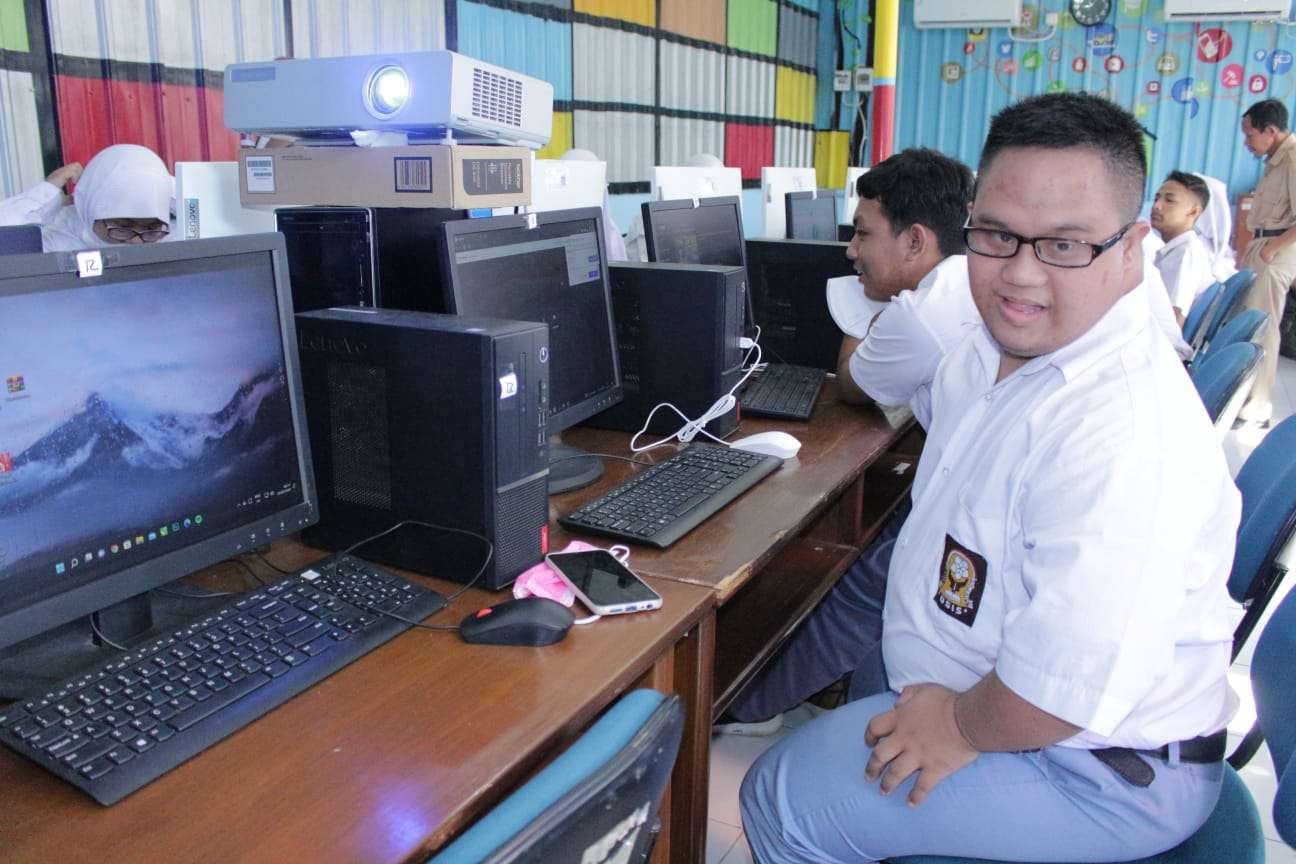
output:
[[[1288,846],[1296,845],[1296,593],[1283,598],[1265,624],[1251,661],[1256,718],[1278,775],[1274,826]]]

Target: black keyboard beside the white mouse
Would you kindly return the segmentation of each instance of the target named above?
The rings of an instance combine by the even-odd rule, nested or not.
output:
[[[559,522],[665,549],[781,464],[778,456],[689,444]]]

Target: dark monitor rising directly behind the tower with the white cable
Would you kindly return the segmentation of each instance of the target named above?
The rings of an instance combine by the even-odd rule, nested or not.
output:
[[[642,211],[651,262],[726,267],[746,263],[737,197],[645,201]]]

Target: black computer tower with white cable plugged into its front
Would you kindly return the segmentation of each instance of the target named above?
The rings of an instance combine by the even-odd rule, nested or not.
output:
[[[639,431],[654,405],[669,402],[701,416],[743,377],[746,271],[741,267],[614,262],[608,267],[612,315],[625,398],[586,421]],[[669,435],[684,421],[664,408],[649,431]],[[727,435],[737,408],[706,425]]]

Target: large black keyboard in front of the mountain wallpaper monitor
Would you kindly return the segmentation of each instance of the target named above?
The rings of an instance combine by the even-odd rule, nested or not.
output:
[[[0,742],[111,804],[445,605],[334,556],[0,709]]]

